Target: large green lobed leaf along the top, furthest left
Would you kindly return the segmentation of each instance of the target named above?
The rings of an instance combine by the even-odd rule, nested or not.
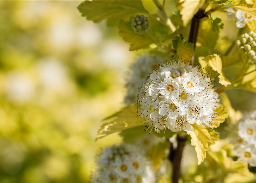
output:
[[[78,9],[83,17],[95,23],[107,19],[109,26],[118,26],[120,20],[127,21],[137,13],[148,14],[140,0],[84,1]]]

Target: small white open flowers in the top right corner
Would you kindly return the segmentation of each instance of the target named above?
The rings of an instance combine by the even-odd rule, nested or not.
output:
[[[227,19],[228,20],[236,20],[236,26],[238,28],[243,28],[245,27],[247,22],[251,22],[253,20],[256,20],[256,17],[253,17],[252,15],[248,13],[244,13],[240,10],[237,10],[233,7],[229,7],[225,9],[227,12]]]

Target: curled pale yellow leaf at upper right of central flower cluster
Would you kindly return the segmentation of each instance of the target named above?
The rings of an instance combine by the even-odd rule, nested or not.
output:
[[[220,81],[219,83],[222,85],[230,85],[230,81],[225,78],[224,73],[222,71],[222,60],[220,59],[220,56],[217,54],[208,55],[203,59],[214,71],[217,71],[220,75],[218,76]]]

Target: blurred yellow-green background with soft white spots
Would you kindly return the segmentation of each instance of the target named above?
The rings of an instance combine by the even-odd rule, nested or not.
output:
[[[89,182],[97,150],[122,140],[94,142],[101,120],[124,106],[125,72],[143,51],[81,17],[81,2],[0,1],[1,183]]]

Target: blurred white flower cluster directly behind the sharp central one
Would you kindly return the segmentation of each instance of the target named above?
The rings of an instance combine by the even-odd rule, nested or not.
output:
[[[139,57],[130,67],[127,73],[126,88],[127,94],[124,99],[125,103],[135,104],[138,96],[138,88],[147,79],[152,69],[158,68],[163,59],[157,56],[150,56],[149,54]]]

